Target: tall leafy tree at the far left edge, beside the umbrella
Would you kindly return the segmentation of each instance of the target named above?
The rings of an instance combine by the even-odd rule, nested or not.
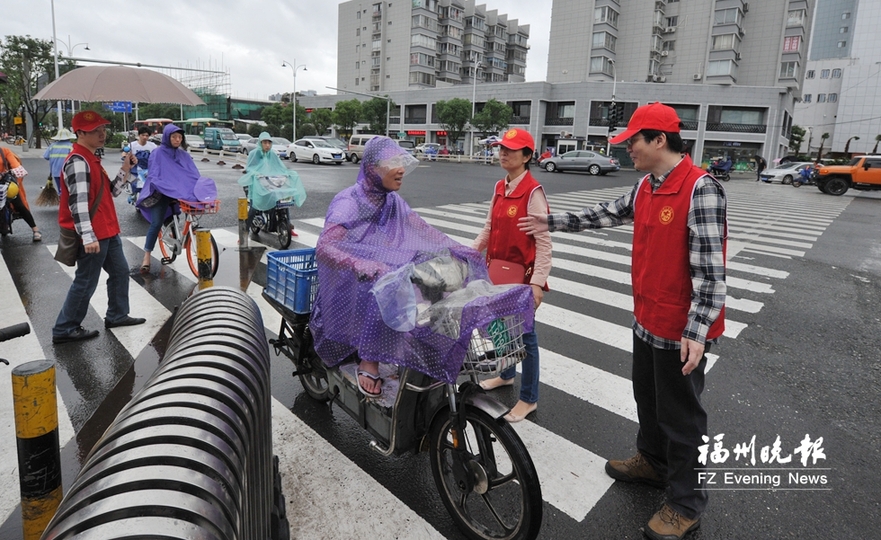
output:
[[[18,111],[24,108],[30,126],[36,135],[36,146],[41,147],[39,127],[51,110],[46,102],[37,103],[32,97],[38,91],[38,82],[51,82],[55,79],[55,62],[52,42],[31,36],[6,36],[0,53],[0,69],[6,74],[8,88],[4,90],[4,103],[7,110]],[[8,95],[17,94],[17,99]],[[15,105],[16,109],[9,109]]]

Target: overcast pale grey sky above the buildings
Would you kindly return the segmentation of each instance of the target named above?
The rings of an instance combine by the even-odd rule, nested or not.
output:
[[[405,1],[405,0],[397,0]],[[370,2],[370,0],[365,0]],[[289,92],[291,69],[306,64],[297,90],[336,86],[342,0],[55,0],[59,52],[117,62],[229,71],[232,95],[266,99]],[[487,9],[530,25],[526,80],[545,79],[552,0],[488,0]],[[0,35],[52,39],[50,0],[2,0]],[[85,50],[78,43],[88,42]]]

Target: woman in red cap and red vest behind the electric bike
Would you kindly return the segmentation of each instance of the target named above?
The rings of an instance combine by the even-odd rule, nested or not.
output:
[[[489,215],[483,230],[471,245],[477,251],[486,249],[486,262],[490,265],[490,278],[496,285],[501,283],[525,283],[532,286],[535,307],[541,305],[544,291],[548,290],[548,274],[551,272],[551,235],[527,235],[517,227],[521,217],[529,213],[548,213],[548,200],[541,184],[529,172],[529,160],[535,152],[535,142],[528,131],[511,129],[502,140],[493,144],[499,148],[499,163],[508,173],[496,182]],[[508,267],[523,268],[523,275],[510,279],[494,277],[493,261],[513,263]],[[505,419],[520,422],[538,407],[538,338],[535,330],[523,335],[526,358],[523,360],[523,377],[520,380],[520,399]],[[484,390],[514,384],[516,368],[502,372],[500,377],[480,383]]]

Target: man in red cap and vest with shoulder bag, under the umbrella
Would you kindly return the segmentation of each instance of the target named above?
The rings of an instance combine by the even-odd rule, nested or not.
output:
[[[98,288],[101,270],[107,271],[107,315],[105,328],[143,324],[145,319],[128,314],[129,267],[119,238],[119,221],[113,197],[128,181],[134,156],[126,155],[119,174],[111,182],[95,155],[104,147],[107,120],[94,111],[82,111],[71,121],[77,140],[61,171],[61,201],[58,225],[76,231],[82,246],[76,261],[76,274],[64,306],[52,328],[52,343],[82,341],[97,337],[97,330],[82,327],[89,301]]]

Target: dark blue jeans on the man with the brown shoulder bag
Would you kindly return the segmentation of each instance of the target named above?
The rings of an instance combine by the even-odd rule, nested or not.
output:
[[[122,251],[122,240],[116,235],[99,241],[99,245],[101,251],[98,253],[86,253],[80,246],[76,274],[52,328],[53,337],[66,336],[82,325],[89,312],[89,301],[98,288],[102,268],[109,275],[106,320],[114,322],[128,315],[129,268]]]

